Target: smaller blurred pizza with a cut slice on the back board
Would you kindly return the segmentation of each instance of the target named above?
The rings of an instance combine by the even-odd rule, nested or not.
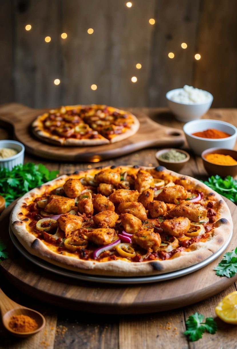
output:
[[[35,136],[62,146],[96,146],[119,142],[135,134],[139,121],[128,111],[107,105],[61,106],[38,116]]]

